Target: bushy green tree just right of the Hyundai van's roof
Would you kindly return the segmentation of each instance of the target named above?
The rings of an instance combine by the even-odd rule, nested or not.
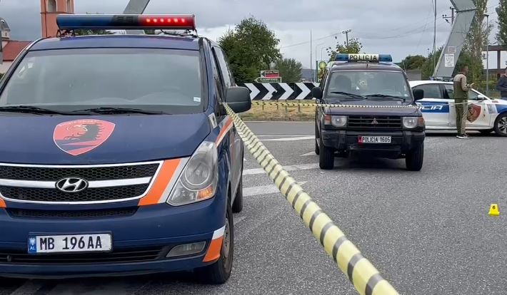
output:
[[[244,19],[219,39],[238,82],[254,81],[260,71],[281,58],[278,43],[275,33],[254,17]]]

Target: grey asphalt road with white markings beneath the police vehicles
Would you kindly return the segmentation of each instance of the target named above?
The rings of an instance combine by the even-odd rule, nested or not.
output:
[[[336,159],[318,169],[311,123],[249,123],[279,162],[401,294],[506,294],[507,138],[426,139],[421,172],[403,160]],[[4,280],[0,294],[357,294],[272,182],[246,155],[231,279],[192,274]]]

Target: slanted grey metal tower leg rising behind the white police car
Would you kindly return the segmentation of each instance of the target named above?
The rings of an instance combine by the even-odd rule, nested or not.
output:
[[[451,0],[451,4],[456,9],[456,19],[454,19],[453,29],[433,72],[433,78],[436,79],[446,79],[453,76],[456,61],[463,49],[468,31],[470,31],[473,16],[476,15],[476,6],[472,0]]]

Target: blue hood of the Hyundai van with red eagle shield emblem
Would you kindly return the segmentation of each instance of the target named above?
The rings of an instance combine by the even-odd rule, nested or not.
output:
[[[192,155],[210,133],[191,115],[1,115],[0,162],[93,165]]]

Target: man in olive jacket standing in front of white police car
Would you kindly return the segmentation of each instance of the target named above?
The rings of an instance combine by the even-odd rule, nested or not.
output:
[[[454,102],[456,103],[456,128],[458,129],[459,139],[470,139],[466,134],[466,113],[468,111],[468,91],[471,90],[473,84],[466,83],[466,75],[468,74],[468,66],[463,66],[461,71],[454,77]]]

